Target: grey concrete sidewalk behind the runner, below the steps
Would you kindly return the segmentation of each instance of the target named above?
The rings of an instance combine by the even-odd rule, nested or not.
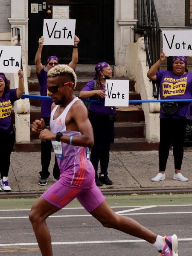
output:
[[[52,168],[54,153],[49,166],[51,175],[47,186],[39,186],[39,171],[41,171],[41,153],[13,152],[9,170],[9,184],[11,192],[0,192],[0,197],[38,195],[44,192],[54,182],[52,181]],[[158,172],[157,151],[112,151],[108,176],[113,185],[100,187],[105,194],[115,193],[151,193],[153,191],[180,190],[192,192],[192,151],[185,151],[183,157],[182,173],[189,178],[188,182],[173,180],[174,162],[170,151],[166,169],[166,180],[152,182],[151,178]]]

